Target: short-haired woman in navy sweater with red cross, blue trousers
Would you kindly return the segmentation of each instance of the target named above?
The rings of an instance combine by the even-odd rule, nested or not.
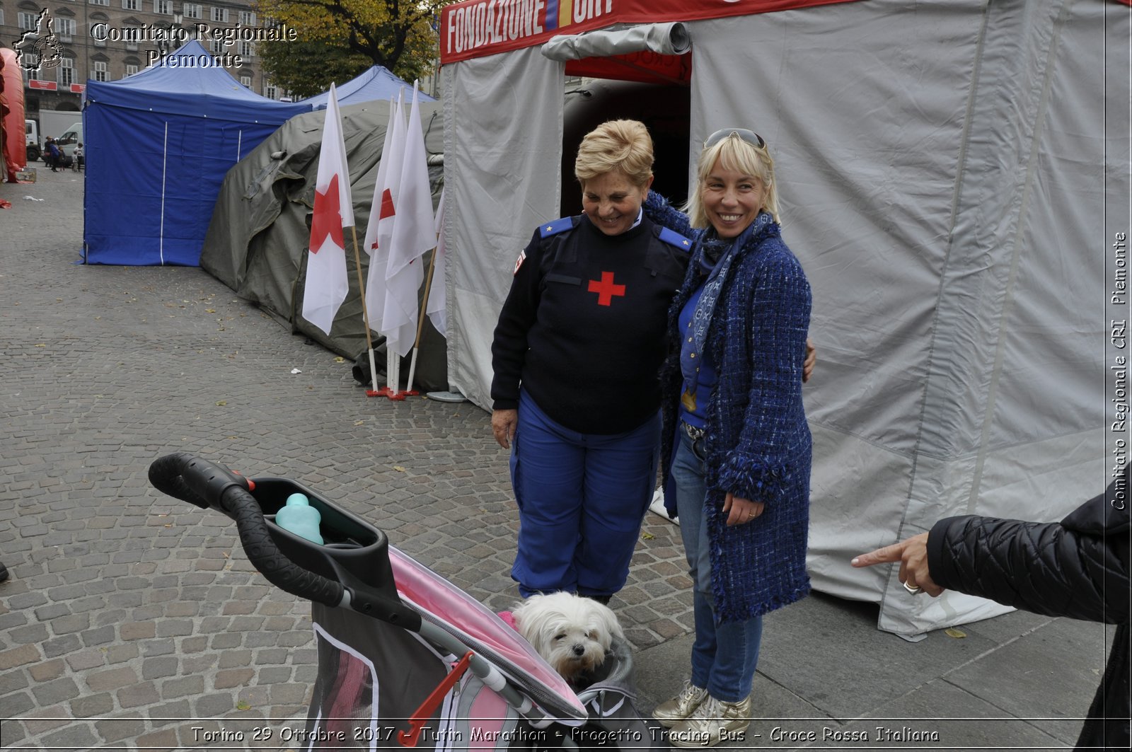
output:
[[[491,430],[518,505],[525,598],[608,601],[657,479],[664,322],[692,243],[643,216],[652,139],[636,120],[588,134],[584,213],[542,224],[515,263],[491,344]]]

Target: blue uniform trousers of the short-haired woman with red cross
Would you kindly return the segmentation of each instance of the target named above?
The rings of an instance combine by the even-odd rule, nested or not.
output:
[[[580,434],[525,391],[512,443],[518,552],[511,576],[524,598],[565,590],[608,596],[625,586],[657,485],[660,413],[625,434]]]

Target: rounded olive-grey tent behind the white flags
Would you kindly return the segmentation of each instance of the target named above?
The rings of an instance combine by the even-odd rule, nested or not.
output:
[[[424,146],[430,154],[438,154],[444,138],[439,105],[423,102],[420,108]],[[291,118],[229,170],[205,236],[200,266],[240,297],[290,322],[293,332],[353,359],[366,349],[366,330],[349,230],[345,238],[350,294],[338,309],[331,335],[299,315],[325,117],[326,111],[320,110]],[[342,108],[359,242],[369,221],[388,119],[388,102]],[[440,168],[430,168],[429,176],[434,199],[438,200]],[[365,250],[360,256],[366,279],[368,256]],[[424,263],[430,258],[430,254],[426,255]],[[377,341],[378,335],[375,333],[374,337]],[[379,361],[384,365],[384,358]],[[447,385],[445,370],[444,337],[426,317],[414,383],[418,388],[443,388]],[[408,368],[402,374],[408,375]]]

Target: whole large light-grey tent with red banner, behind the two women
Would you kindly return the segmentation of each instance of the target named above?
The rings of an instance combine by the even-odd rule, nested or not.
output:
[[[657,79],[691,87],[689,155],[721,127],[766,138],[784,238],[814,288],[815,587],[880,603],[880,629],[909,638],[1005,610],[910,598],[895,567],[849,559],[950,514],[1060,519],[1123,461],[1109,418],[1126,416],[1126,382],[1108,341],[1126,306],[1108,302],[1126,280],[1129,8],[499,8],[441,16],[451,386],[490,407],[511,270],[558,216],[576,146],[563,143],[564,76],[663,63]],[[655,43],[671,29],[642,33],[651,22],[683,24],[691,52]]]

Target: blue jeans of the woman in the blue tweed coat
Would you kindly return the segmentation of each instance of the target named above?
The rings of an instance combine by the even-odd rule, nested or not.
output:
[[[738,702],[751,694],[751,683],[758,664],[763,617],[715,623],[704,472],[704,462],[693,451],[692,439],[680,430],[672,459],[672,480],[676,484],[676,513],[680,520],[680,537],[684,539],[688,573],[693,582],[696,641],[692,646],[692,683],[705,687],[717,700]]]

